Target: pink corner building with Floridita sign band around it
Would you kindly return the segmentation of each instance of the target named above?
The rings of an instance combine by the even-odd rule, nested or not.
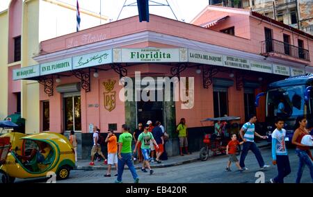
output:
[[[243,123],[256,113],[264,122],[264,100],[256,109],[255,95],[269,83],[313,71],[312,35],[249,10],[217,6],[204,8],[192,24],[156,15],[149,23],[130,17],[46,40],[40,49],[33,57],[39,65],[15,70],[13,78],[43,84],[40,130],[76,130],[83,158],[92,145],[90,126],[120,132],[127,123],[133,131],[147,120],[161,121],[172,138],[168,155],[177,155],[175,127],[182,117],[191,151],[198,151],[204,131],[213,132],[211,123],[201,120],[227,114]],[[121,101],[122,76],[139,84],[138,92],[145,92],[150,80],[145,77],[188,77],[189,85],[193,78],[194,100]],[[164,87],[153,88],[166,93]]]

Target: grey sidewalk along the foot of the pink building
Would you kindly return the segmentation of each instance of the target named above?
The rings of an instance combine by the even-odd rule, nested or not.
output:
[[[266,147],[268,146],[268,142],[259,142],[257,143],[257,146],[259,148]],[[218,157],[218,156],[216,156]],[[168,160],[162,161],[161,164],[157,164],[157,162],[150,162],[150,165],[152,168],[157,169],[157,168],[165,168],[165,167],[170,167],[170,166],[178,166],[182,164],[188,164],[191,162],[196,162],[200,160],[199,159],[199,151],[193,152],[191,155],[184,155],[184,156],[174,156],[174,157],[168,157]],[[105,165],[103,160],[100,162],[95,161],[95,166],[89,166],[90,160],[78,160],[77,162],[77,170],[106,170],[108,169],[108,166]],[[143,163],[135,164],[136,169],[141,169]],[[128,169],[127,166],[125,166],[125,169]]]

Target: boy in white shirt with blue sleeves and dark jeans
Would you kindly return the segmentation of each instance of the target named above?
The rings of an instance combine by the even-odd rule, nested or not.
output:
[[[270,181],[271,183],[284,183],[284,178],[291,173],[287,148],[284,143],[286,136],[286,130],[283,129],[284,120],[276,119],[275,126],[276,129],[272,133],[272,157],[273,165],[277,164],[278,175],[271,178]]]

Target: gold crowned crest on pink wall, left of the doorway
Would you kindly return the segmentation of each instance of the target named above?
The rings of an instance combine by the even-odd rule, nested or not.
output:
[[[104,85],[104,88],[105,88],[104,108],[106,110],[108,110],[109,112],[111,112],[112,110],[115,109],[116,92],[113,91],[115,83],[116,83],[116,80],[111,80],[111,79],[104,81],[104,83],[102,83]]]

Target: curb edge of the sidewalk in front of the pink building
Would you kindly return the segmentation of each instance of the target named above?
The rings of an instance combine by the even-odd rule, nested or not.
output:
[[[197,162],[198,160],[200,160],[199,158],[192,158],[186,161],[182,161],[182,162],[173,162],[170,164],[150,164],[152,168],[154,169],[161,169],[161,168],[167,168],[170,166],[179,166],[182,164],[189,164],[192,162]],[[85,170],[85,171],[95,171],[95,170],[107,170],[108,167],[107,166],[76,166],[74,168],[74,170]],[[125,169],[128,169],[128,166],[125,166]],[[135,169],[141,169],[141,166],[135,166]]]

